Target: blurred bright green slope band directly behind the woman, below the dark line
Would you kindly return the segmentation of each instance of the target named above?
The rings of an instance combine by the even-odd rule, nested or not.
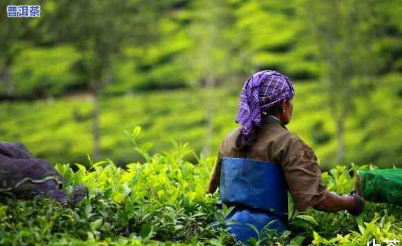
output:
[[[346,119],[346,160],[336,163],[335,124],[320,83],[297,83],[294,116],[288,125],[312,146],[323,168],[333,165],[373,163],[400,166],[402,156],[401,76],[379,80],[381,87],[355,100]],[[102,98],[102,154],[117,165],[142,160],[135,154],[124,130],[139,125],[138,141],[155,143],[151,153],[169,151],[171,140],[189,142],[200,152],[205,143],[205,97],[198,90],[173,90]],[[216,91],[213,153],[234,127],[238,92]],[[86,163],[92,152],[91,101],[86,96],[0,104],[2,141],[21,141],[38,158],[55,163]],[[189,160],[194,161],[189,157]]]

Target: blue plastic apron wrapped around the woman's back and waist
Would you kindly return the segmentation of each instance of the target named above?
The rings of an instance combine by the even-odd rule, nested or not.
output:
[[[220,202],[235,209],[227,216],[229,232],[247,243],[267,223],[269,229],[282,233],[287,229],[287,184],[279,165],[247,158],[222,158]]]

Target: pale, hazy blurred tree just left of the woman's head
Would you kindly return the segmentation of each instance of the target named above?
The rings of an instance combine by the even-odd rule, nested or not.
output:
[[[191,23],[187,26],[192,46],[186,52],[184,62],[189,68],[189,81],[203,90],[206,114],[205,143],[202,152],[211,152],[213,139],[213,111],[218,104],[216,85],[228,80],[233,69],[233,33],[230,30],[234,17],[228,1],[193,1]]]

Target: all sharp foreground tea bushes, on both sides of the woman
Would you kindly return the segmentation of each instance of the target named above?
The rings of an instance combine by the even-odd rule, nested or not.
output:
[[[0,245],[233,245],[224,216],[231,208],[217,211],[218,194],[204,194],[214,157],[196,156],[198,164],[184,161],[194,154],[186,144],[171,152],[149,154],[151,143],[137,143],[140,128],[130,136],[144,163],[125,169],[112,161],[83,165],[58,164],[66,178],[65,189],[84,184],[88,198],[76,206],[35,198],[19,201],[0,196]],[[350,172],[373,166],[337,166],[323,172],[329,190],[350,192]],[[289,205],[292,207],[292,205]],[[291,214],[291,213],[289,213]],[[367,203],[358,217],[347,212],[324,213],[309,209],[291,217],[289,228],[276,236],[269,229],[258,232],[251,245],[366,245],[402,240],[402,214],[398,207]]]

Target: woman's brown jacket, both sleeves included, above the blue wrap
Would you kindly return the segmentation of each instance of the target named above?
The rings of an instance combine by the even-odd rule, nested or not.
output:
[[[229,133],[222,141],[216,166],[209,183],[209,193],[219,186],[222,157],[251,158],[271,161],[282,166],[296,209],[304,211],[325,199],[325,185],[320,182],[320,167],[312,149],[274,117],[265,117],[258,129],[258,139],[247,152],[236,148],[242,127]]]

